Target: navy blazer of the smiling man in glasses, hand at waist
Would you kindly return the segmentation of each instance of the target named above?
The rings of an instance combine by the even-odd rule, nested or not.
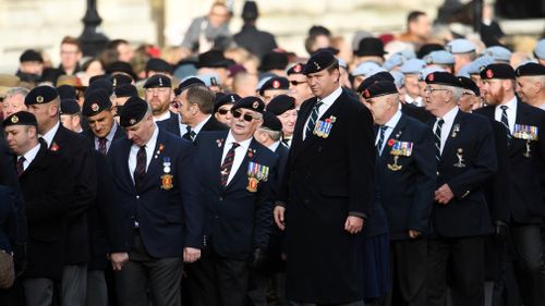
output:
[[[434,204],[433,234],[443,237],[488,234],[492,222],[484,189],[497,169],[492,125],[486,118],[458,111],[448,135],[437,166],[437,188],[448,184],[455,197],[447,205]],[[459,149],[462,163],[457,156]]]

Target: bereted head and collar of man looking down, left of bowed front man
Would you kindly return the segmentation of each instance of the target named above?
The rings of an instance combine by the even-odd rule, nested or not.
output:
[[[82,114],[89,124],[89,130],[83,132],[83,135],[102,155],[108,152],[113,140],[125,137],[124,131],[113,120],[112,105],[105,90],[87,93]]]

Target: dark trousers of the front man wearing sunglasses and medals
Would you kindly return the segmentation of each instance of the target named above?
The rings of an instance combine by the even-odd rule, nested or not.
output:
[[[187,287],[192,306],[244,306],[247,293],[247,262],[222,258],[207,249],[187,265]]]

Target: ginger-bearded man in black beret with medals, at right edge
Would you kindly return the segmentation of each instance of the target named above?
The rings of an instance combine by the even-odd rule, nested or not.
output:
[[[520,73],[520,71],[519,71]],[[501,122],[509,156],[510,234],[516,257],[517,282],[524,305],[543,302],[543,248],[540,224],[545,216],[543,206],[545,167],[545,139],[540,131],[545,128],[545,112],[517,99],[516,72],[508,64],[489,64],[481,71],[481,87],[488,105],[475,112]]]

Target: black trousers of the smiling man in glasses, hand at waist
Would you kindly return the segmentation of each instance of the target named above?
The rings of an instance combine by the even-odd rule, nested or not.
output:
[[[451,265],[449,267],[449,265]],[[484,305],[484,237],[428,240],[427,293],[429,306],[447,303],[447,271],[451,274],[453,306]]]

